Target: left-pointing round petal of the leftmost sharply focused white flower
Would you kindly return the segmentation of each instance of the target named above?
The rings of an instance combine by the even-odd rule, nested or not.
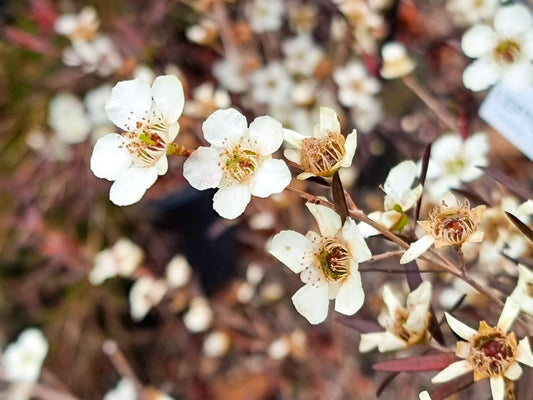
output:
[[[131,154],[126,150],[121,135],[110,133],[96,142],[91,156],[91,171],[96,177],[114,181],[131,163]]]

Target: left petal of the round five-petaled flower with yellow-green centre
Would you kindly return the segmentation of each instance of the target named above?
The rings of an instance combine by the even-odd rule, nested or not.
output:
[[[198,190],[218,187],[222,179],[218,151],[212,147],[198,147],[183,164],[183,176]]]

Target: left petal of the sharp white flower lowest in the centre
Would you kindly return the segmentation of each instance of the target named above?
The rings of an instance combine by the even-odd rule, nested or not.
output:
[[[294,231],[281,231],[272,238],[269,253],[295,273],[302,272],[307,263],[306,254],[313,254],[313,243],[304,235]]]

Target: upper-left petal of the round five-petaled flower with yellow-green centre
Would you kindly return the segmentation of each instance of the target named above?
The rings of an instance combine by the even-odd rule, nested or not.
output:
[[[238,141],[247,129],[246,117],[234,108],[215,111],[202,125],[205,140],[215,147]]]

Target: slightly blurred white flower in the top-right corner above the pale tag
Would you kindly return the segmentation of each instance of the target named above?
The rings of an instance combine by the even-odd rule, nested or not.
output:
[[[463,52],[477,60],[463,72],[464,85],[474,91],[498,81],[513,89],[533,83],[533,24],[523,4],[503,6],[494,15],[494,28],[478,24],[465,32]]]

